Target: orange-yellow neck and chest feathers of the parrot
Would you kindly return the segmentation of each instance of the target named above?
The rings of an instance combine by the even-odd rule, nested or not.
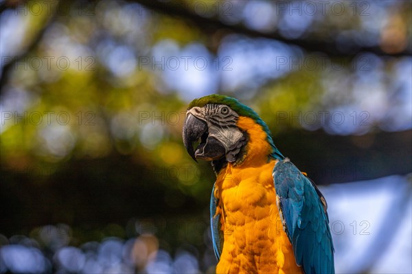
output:
[[[216,273],[301,273],[276,206],[276,160],[268,162],[266,133],[250,120],[238,123],[249,134],[246,158],[227,164],[216,179],[216,213],[224,232]]]

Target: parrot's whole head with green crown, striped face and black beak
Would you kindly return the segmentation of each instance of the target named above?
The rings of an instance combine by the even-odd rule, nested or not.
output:
[[[199,142],[196,148],[194,142]],[[208,95],[190,103],[183,125],[183,143],[195,161],[213,161],[214,166],[242,164],[257,153],[263,158],[267,156],[266,160],[284,158],[258,114],[224,95]]]

